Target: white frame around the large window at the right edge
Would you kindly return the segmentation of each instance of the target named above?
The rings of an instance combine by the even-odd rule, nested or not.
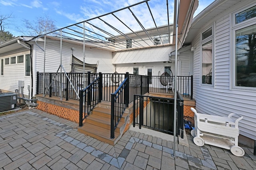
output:
[[[243,29],[252,25],[256,25],[256,17],[249,20],[236,23],[236,14],[248,10],[249,8],[256,6],[256,4],[251,4],[247,7],[241,8],[240,10],[231,14],[232,27],[231,27],[231,89],[236,90],[256,90],[255,87],[245,87],[245,86],[236,86],[236,31]]]

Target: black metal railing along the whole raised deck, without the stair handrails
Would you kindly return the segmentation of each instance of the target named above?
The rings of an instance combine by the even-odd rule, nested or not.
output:
[[[67,75],[67,76],[66,76]],[[95,80],[99,74],[90,74],[90,79]],[[117,90],[123,82],[125,74],[105,73],[102,74],[102,100],[111,101],[111,94]],[[129,103],[133,102],[134,94],[146,94],[148,92],[173,94],[174,81],[167,86],[160,82],[161,76],[148,76],[129,74]],[[70,81],[68,80],[70,79]],[[167,80],[170,78],[167,77]],[[172,78],[174,80],[174,78]],[[183,97],[193,99],[193,76],[177,76],[177,90]],[[66,98],[66,100],[79,100],[79,90],[88,86],[88,73],[62,73],[62,83],[60,83],[60,73],[37,73],[36,94],[47,94]],[[44,88],[45,86],[45,88]],[[60,87],[62,90],[60,90]]]

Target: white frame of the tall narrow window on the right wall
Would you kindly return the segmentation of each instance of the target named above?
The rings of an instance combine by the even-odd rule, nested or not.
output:
[[[212,28],[212,35],[210,35],[209,37],[205,38],[204,40],[202,40],[202,34],[207,31],[208,29]],[[215,35],[215,23],[212,24],[210,27],[207,27],[206,29],[204,29],[203,31],[200,32],[200,86],[210,86],[210,87],[214,87],[214,59],[215,59],[215,39],[214,39],[214,35]],[[212,84],[204,84],[202,83],[202,46],[208,42],[212,41]]]

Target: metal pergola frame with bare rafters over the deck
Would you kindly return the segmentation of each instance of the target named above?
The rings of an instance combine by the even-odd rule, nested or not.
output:
[[[172,42],[170,41],[170,36],[172,36],[170,35],[170,29],[172,29],[173,25],[169,24],[170,18],[168,14],[168,0],[166,0],[166,6],[164,6],[164,8],[167,9],[167,19],[164,27],[168,28],[167,37],[169,39],[169,43],[163,44],[161,39],[161,45],[154,45],[154,37],[152,37],[149,33],[149,31],[154,29],[154,35],[161,37],[161,31],[159,29],[163,27],[162,25],[157,25],[156,17],[154,17],[154,14],[152,13],[149,1],[150,0],[144,0],[125,8],[57,29],[44,35],[51,35],[53,37],[73,41],[81,41],[84,43],[84,45],[89,45],[90,48],[103,48],[112,52],[172,45]],[[150,27],[150,29],[145,23],[139,20],[138,16],[136,16],[135,12],[132,10],[132,7],[143,5],[147,7],[148,14],[151,16],[151,21],[154,23],[154,27]],[[136,23],[140,25],[140,31],[134,30],[134,28],[128,26],[128,23],[125,23],[123,19],[118,17],[118,12],[124,12],[125,10],[126,12],[128,11],[128,14],[134,17],[128,18],[127,20],[136,21]],[[108,21],[106,21],[104,18],[107,18]],[[111,20],[116,20],[118,23],[112,25],[109,23]],[[95,23],[98,24],[96,25]],[[130,32],[124,33],[124,31],[118,29],[118,27],[124,27]],[[60,32],[62,32],[62,35]],[[44,35],[40,35],[38,37],[43,37]],[[131,48],[126,48],[127,39],[131,40]]]

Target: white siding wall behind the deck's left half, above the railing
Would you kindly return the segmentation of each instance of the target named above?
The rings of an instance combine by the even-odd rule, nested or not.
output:
[[[43,43],[41,43],[43,44]],[[34,45],[36,47],[36,45]],[[41,48],[43,45],[41,45]],[[72,47],[74,47],[73,55],[83,61],[83,48],[80,45],[72,45],[62,42],[62,66],[66,72],[71,71]],[[97,72],[113,72],[112,52],[101,49],[85,48],[85,63],[96,64],[99,61]],[[52,64],[54,63],[54,64]],[[46,40],[46,60],[45,72],[56,72],[60,66],[60,42],[47,43]],[[36,47],[36,71],[44,71],[44,52]]]

